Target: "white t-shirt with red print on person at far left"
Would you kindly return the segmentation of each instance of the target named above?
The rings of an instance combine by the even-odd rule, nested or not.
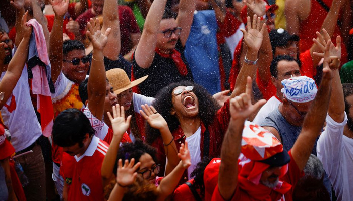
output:
[[[15,51],[16,48],[12,51],[13,55]],[[4,75],[5,72],[2,72],[0,80],[3,79]],[[15,110],[12,111],[12,109]],[[5,126],[9,128],[11,143],[16,152],[27,148],[42,135],[41,126],[29,94],[27,66],[23,68],[21,77],[11,96],[7,100],[6,105],[1,109],[1,115]]]

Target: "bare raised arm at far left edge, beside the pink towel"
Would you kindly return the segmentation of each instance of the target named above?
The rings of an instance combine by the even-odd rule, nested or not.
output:
[[[32,28],[26,26],[27,14],[28,14],[28,11],[25,13],[25,15],[22,16],[22,23],[21,23],[22,25],[21,30],[23,33],[22,41],[18,46],[14,54],[14,57],[11,59],[3,79],[0,82],[0,91],[4,92],[4,98],[3,100],[0,101],[0,109],[3,108],[4,104],[9,99],[12,93],[12,90],[14,90],[18,80],[21,77],[22,70],[27,61],[29,40],[32,34]],[[0,32],[0,38],[1,37],[2,37],[2,34]],[[3,46],[4,46],[4,43],[0,43],[0,51],[5,52]]]

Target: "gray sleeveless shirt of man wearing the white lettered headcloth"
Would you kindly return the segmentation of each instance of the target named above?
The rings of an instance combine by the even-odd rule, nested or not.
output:
[[[281,137],[283,148],[285,148],[286,151],[289,151],[293,147],[302,130],[301,126],[293,126],[289,124],[279,112],[278,107],[265,118],[261,126],[270,126],[275,128]],[[317,140],[318,138],[316,139],[314,148],[311,152],[314,155],[316,155]]]

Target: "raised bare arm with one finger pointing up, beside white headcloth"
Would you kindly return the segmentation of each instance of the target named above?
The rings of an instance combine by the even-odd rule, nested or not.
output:
[[[338,71],[340,63],[337,57],[330,57],[330,45],[331,40],[327,42],[324,52],[323,78],[319,90],[308,114],[304,119],[302,131],[291,149],[293,159],[301,171],[304,169],[309,159],[315,140],[320,134],[322,126],[325,122],[331,95],[331,82],[335,74],[334,71]]]

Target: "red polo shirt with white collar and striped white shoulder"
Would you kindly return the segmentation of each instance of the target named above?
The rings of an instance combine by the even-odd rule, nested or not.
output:
[[[68,200],[104,200],[101,167],[108,147],[93,136],[82,156],[63,153],[60,175],[67,185]]]

